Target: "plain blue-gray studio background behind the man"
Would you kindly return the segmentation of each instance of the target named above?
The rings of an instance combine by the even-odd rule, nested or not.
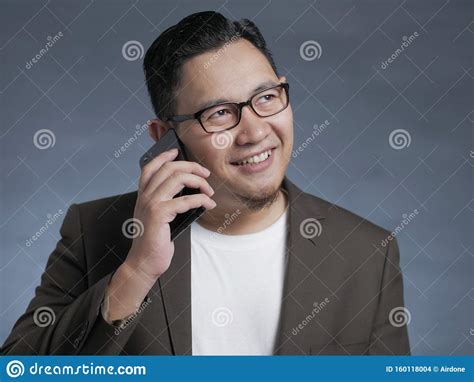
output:
[[[47,214],[137,188],[142,134],[153,117],[145,49],[190,13],[219,10],[261,28],[291,84],[295,148],[314,124],[329,126],[292,159],[307,192],[399,234],[414,354],[472,353],[473,3],[469,1],[2,1],[0,342],[25,310],[59,239],[63,216],[32,246]],[[63,37],[30,69],[48,36]],[[382,61],[419,36],[386,69]],[[305,41],[319,59],[300,55]],[[54,146],[33,141],[49,129]],[[395,129],[411,143],[389,144]]]

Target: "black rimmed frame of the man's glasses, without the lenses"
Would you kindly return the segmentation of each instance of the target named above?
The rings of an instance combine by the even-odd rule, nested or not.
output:
[[[285,93],[286,93],[286,105],[283,109],[281,109],[280,111],[277,111],[276,113],[273,113],[273,114],[270,114],[270,115],[265,115],[265,116],[262,116],[260,115],[253,107],[252,105],[252,101],[255,97],[257,97],[258,95],[268,91],[268,90],[271,90],[271,89],[276,89],[276,88],[283,88],[285,90]],[[227,131],[227,130],[230,130],[230,129],[233,129],[234,127],[236,127],[239,123],[240,123],[240,120],[242,118],[242,109],[245,107],[245,106],[249,106],[253,112],[259,116],[260,118],[266,118],[266,117],[271,117],[272,115],[276,115],[278,113],[281,113],[283,110],[285,110],[288,105],[290,104],[290,93],[289,93],[289,88],[290,88],[290,85],[287,83],[287,82],[281,82],[279,83],[278,85],[275,85],[275,86],[271,86],[267,89],[264,89],[264,90],[261,90],[259,91],[258,93],[255,93],[252,97],[250,97],[247,101],[244,101],[244,102],[224,102],[224,103],[220,103],[220,104],[217,104],[217,105],[212,105],[212,106],[209,106],[209,107],[206,107],[202,110],[199,110],[198,112],[194,113],[194,114],[184,114],[184,115],[174,115],[174,116],[170,116],[170,117],[166,117],[164,118],[163,120],[165,122],[177,122],[177,123],[180,123],[180,122],[184,122],[184,121],[189,121],[191,119],[197,119],[199,121],[199,124],[201,125],[201,127],[203,128],[203,130],[208,133],[208,134],[212,134],[212,133],[219,133],[219,132],[222,132],[222,131]],[[231,127],[228,127],[227,129],[223,129],[223,130],[219,130],[219,131],[207,131],[206,128],[204,127],[202,121],[201,121],[201,116],[202,114],[204,114],[207,110],[209,109],[212,109],[216,106],[224,106],[224,105],[234,105],[237,110],[238,110],[238,119],[237,119],[237,122],[235,123],[235,125],[231,126]]]

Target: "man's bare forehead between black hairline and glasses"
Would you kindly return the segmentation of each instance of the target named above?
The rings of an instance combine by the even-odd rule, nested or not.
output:
[[[178,110],[196,111],[197,105],[212,99],[242,101],[261,83],[272,80],[278,78],[267,58],[249,41],[239,39],[185,62]]]

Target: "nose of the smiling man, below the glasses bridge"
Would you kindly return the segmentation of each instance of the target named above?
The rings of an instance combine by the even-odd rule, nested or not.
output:
[[[234,129],[236,130],[235,142],[238,145],[261,142],[271,132],[270,125],[256,115],[250,106],[242,108],[240,123]]]

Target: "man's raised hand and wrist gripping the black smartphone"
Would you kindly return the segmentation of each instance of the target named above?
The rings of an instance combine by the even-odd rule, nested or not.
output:
[[[210,171],[196,162],[174,161],[177,150],[161,153],[143,167],[134,218],[143,232],[133,239],[126,263],[141,275],[156,280],[170,266],[174,254],[169,223],[177,214],[216,203],[207,178]],[[184,187],[199,188],[201,193],[174,196]]]

